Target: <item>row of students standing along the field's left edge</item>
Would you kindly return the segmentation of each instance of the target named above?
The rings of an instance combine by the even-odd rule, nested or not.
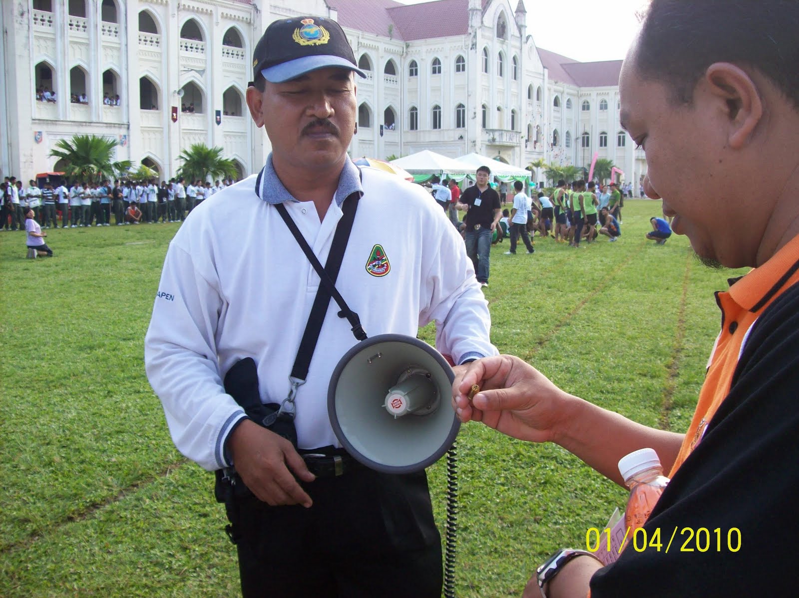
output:
[[[25,230],[30,209],[42,228],[78,228],[116,226],[185,220],[186,215],[203,200],[221,191],[233,179],[215,184],[195,180],[130,181],[109,180],[101,184],[76,181],[69,186],[49,182],[39,188],[36,181],[23,188],[22,181],[6,177],[0,185],[0,230]],[[133,206],[133,209],[131,207]]]

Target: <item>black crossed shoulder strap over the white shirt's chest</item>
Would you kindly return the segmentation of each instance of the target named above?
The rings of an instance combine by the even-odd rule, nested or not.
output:
[[[300,341],[300,349],[297,350],[297,356],[292,368],[292,378],[296,380],[304,380],[308,375],[308,366],[311,364],[313,351],[316,349],[316,341],[319,339],[319,333],[322,330],[322,323],[324,323],[324,315],[328,311],[331,297],[336,299],[336,303],[341,308],[339,311],[340,318],[346,318],[352,325],[352,334],[359,341],[367,338],[364,327],[360,324],[360,318],[355,311],[352,311],[347,303],[344,301],[339,291],[336,289],[336,279],[338,278],[341,269],[341,262],[344,260],[344,251],[347,249],[347,241],[352,231],[352,223],[355,221],[355,214],[358,209],[358,200],[360,194],[355,192],[349,195],[343,204],[344,216],[341,217],[338,226],[336,226],[336,233],[333,236],[333,242],[328,255],[328,262],[324,268],[316,258],[308,242],[302,236],[300,229],[288,216],[288,211],[283,204],[276,204],[277,212],[283,218],[286,226],[292,232],[292,235],[300,244],[300,248],[304,251],[308,261],[311,262],[313,269],[320,278],[319,291],[316,291],[316,298],[313,301],[311,314],[308,316],[308,323],[305,325],[305,331]]]

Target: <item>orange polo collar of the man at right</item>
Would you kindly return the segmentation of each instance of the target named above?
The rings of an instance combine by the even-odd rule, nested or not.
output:
[[[793,237],[762,266],[739,279],[731,279],[729,295],[745,309],[761,311],[799,270],[799,236]]]

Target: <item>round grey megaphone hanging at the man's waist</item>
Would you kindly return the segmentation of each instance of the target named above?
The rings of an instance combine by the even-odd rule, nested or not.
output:
[[[377,335],[348,350],[333,370],[328,416],[348,453],[371,469],[411,473],[438,461],[460,422],[455,374],[438,351],[405,335]]]

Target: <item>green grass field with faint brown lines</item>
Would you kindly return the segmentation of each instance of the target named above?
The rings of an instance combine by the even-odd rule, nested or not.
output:
[[[615,244],[492,249],[493,342],[573,394],[685,430],[718,332],[712,291],[733,274],[700,266],[684,237],[646,241],[659,202],[622,212]],[[0,596],[237,595],[213,476],[177,453],[144,372],[177,226],[51,230],[56,256],[35,260],[24,233],[0,232]],[[584,545],[626,502],[558,446],[469,424],[458,452],[463,598],[518,596],[548,553]],[[429,475],[443,522],[443,461]]]

